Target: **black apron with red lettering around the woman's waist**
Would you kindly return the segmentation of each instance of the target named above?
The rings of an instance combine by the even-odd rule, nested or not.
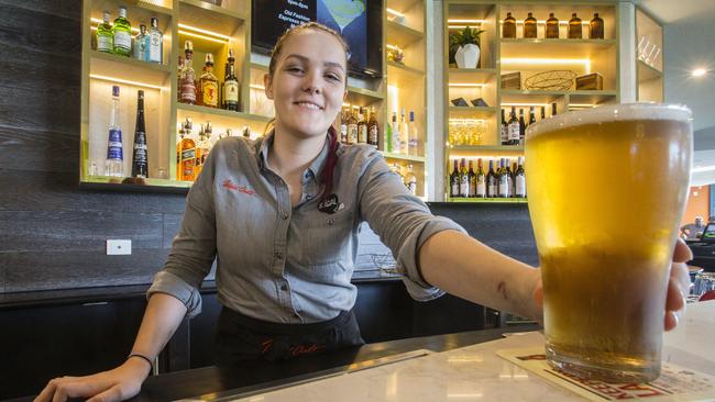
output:
[[[278,361],[364,345],[352,311],[311,324],[279,324],[221,309],[216,333],[217,366]]]

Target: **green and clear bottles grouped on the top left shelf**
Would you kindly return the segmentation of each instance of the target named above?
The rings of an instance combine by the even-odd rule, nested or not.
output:
[[[163,63],[164,35],[158,20],[152,18],[150,27],[140,24],[139,33],[132,36],[132,25],[127,19],[127,8],[119,7],[119,16],[110,23],[111,14],[103,12],[103,20],[97,24],[97,51],[119,56],[133,57],[148,63]]]

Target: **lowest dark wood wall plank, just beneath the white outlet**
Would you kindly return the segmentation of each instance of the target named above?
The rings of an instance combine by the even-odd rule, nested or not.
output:
[[[6,291],[150,283],[168,250],[132,249],[129,256],[105,250],[4,253]]]

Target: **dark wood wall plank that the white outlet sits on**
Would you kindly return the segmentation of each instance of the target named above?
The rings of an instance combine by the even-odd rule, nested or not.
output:
[[[0,212],[0,250],[106,249],[108,238],[129,238],[132,249],[161,248],[162,215],[124,212]]]

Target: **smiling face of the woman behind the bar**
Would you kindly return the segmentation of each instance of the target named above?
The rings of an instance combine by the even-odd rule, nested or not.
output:
[[[264,78],[276,129],[299,138],[324,135],[345,97],[345,53],[331,34],[304,30],[283,44],[273,79]]]

